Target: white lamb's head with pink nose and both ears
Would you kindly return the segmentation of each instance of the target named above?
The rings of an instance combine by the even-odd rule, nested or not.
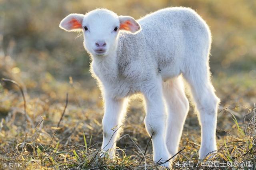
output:
[[[60,22],[68,32],[83,32],[84,47],[94,56],[108,55],[116,49],[120,31],[136,34],[140,24],[130,16],[118,16],[106,9],[96,9],[87,14],[69,14]]]

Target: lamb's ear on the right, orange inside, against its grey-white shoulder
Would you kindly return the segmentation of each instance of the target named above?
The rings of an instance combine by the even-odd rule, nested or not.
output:
[[[128,31],[136,34],[140,31],[140,24],[131,16],[119,16],[120,30]]]

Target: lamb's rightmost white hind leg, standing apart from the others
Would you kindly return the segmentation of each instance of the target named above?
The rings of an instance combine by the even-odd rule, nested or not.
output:
[[[199,158],[204,159],[208,153],[217,149],[215,132],[219,99],[214,93],[207,65],[196,69],[190,68],[184,77],[190,84],[196,108],[199,111],[198,119],[201,125]]]

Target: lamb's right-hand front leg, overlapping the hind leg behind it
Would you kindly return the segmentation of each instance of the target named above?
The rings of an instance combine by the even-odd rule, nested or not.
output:
[[[152,82],[154,83],[147,83],[147,89],[144,93],[146,101],[146,117],[144,123],[148,134],[151,136],[153,133],[153,160],[159,164],[168,160],[170,155],[165,142],[166,114],[164,112],[162,82]],[[166,162],[162,166],[170,166],[170,162]]]

